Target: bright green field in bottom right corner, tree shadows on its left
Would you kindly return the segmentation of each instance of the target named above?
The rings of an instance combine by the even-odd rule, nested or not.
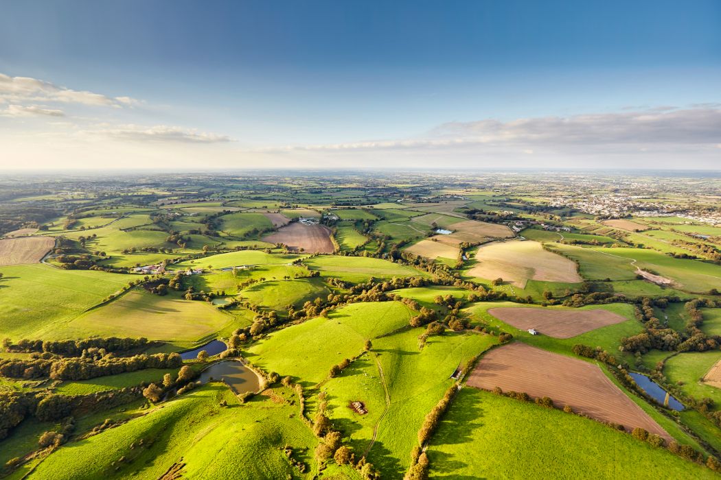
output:
[[[433,479],[716,478],[593,420],[472,388],[459,392],[428,458]]]

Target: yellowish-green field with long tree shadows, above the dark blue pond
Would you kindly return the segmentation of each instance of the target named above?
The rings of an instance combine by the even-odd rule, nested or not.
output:
[[[180,294],[159,296],[133,290],[63,325],[56,325],[44,332],[44,337],[111,337],[122,332],[128,337],[186,345],[208,338],[233,321],[233,317],[208,302],[181,299]]]

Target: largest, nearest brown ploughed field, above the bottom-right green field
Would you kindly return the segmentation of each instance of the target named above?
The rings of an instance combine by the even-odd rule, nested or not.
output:
[[[569,405],[576,413],[619,423],[627,431],[641,427],[667,441],[673,440],[598,366],[525,343],[514,342],[486,353],[471,373],[468,385],[485,390],[498,386],[531,397],[550,397],[556,407]]]

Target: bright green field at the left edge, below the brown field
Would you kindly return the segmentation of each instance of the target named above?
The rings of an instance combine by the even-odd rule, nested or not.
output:
[[[42,264],[0,267],[0,273],[0,330],[16,340],[37,338],[138,279]]]

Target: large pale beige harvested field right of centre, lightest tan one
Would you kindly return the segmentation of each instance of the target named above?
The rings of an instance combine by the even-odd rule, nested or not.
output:
[[[476,266],[468,271],[481,279],[503,279],[521,288],[528,280],[558,281],[578,284],[576,263],[568,258],[548,252],[538,242],[508,241],[482,245],[475,257]]]

